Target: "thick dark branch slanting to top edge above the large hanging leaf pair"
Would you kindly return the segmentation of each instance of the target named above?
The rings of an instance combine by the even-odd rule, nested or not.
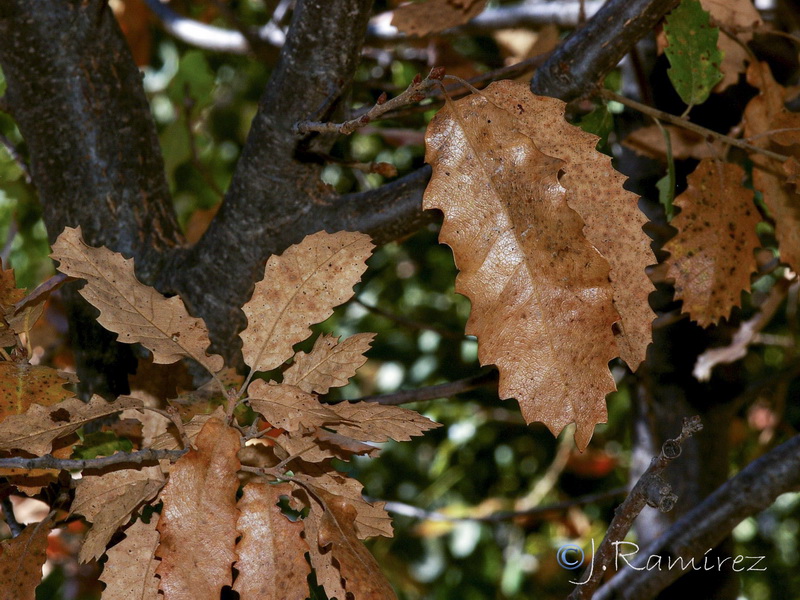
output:
[[[574,100],[590,92],[678,0],[609,0],[531,82],[535,94]]]

